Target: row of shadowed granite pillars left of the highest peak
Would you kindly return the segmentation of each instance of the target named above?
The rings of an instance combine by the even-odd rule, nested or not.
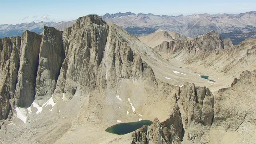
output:
[[[64,55],[60,56],[61,58],[56,57],[63,49],[62,32],[46,26],[43,36],[27,30],[22,37],[3,38],[0,41],[2,97],[0,119],[6,119],[8,115],[12,115],[16,107],[28,108],[39,94],[43,93],[41,95],[43,97],[47,97],[47,94],[52,95],[55,88],[54,81],[50,82],[50,87],[53,87],[51,91],[42,84],[42,81],[47,83],[48,76],[51,76],[44,70],[54,73],[52,75],[56,81]],[[62,51],[64,54],[64,50]],[[48,100],[46,99],[44,102]]]

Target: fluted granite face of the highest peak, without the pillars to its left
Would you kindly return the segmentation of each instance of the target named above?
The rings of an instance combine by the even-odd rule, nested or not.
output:
[[[145,74],[152,73],[116,28],[100,16],[88,15],[64,31],[66,58],[54,92],[56,98],[64,94],[70,100],[76,91],[86,94],[110,89],[116,93],[123,78],[142,80],[144,70]]]

